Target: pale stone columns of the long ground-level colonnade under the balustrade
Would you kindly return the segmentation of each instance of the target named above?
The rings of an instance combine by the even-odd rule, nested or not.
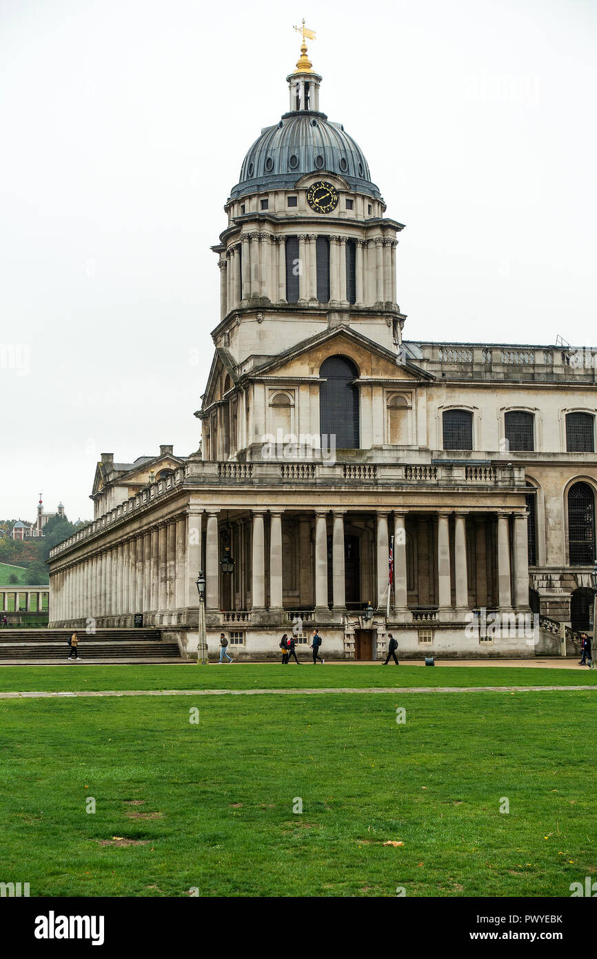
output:
[[[284,509],[255,507],[248,512],[250,547],[250,608],[255,612],[283,609]],[[315,612],[327,611],[330,592],[333,610],[346,608],[345,516],[346,509],[314,509],[309,519],[301,518],[300,535],[308,537],[311,567],[310,586]],[[362,511],[361,511],[362,512]],[[418,515],[421,514],[417,511]],[[265,515],[269,516],[266,536]],[[294,514],[294,511],[293,511]],[[450,550],[450,514],[453,514],[453,549]],[[376,606],[385,607],[390,548],[389,521],[394,528],[394,584],[391,608],[405,612],[407,604],[406,535],[404,509],[375,512],[375,558],[371,572],[375,577]],[[469,573],[467,566],[467,510],[432,513],[436,524],[436,571],[438,618],[449,611],[469,609]],[[84,557],[79,563],[52,576],[52,621],[99,617],[127,617],[134,613],[154,613],[156,622],[167,622],[168,614],[198,605],[195,579],[200,569],[206,578],[206,610],[221,609],[219,509],[203,510],[191,506],[186,513],[161,521],[126,536],[119,543]],[[512,516],[512,521],[511,521]],[[474,518],[471,517],[471,518]],[[295,515],[292,519],[296,522]],[[528,555],[526,513],[496,511],[496,582],[500,609],[528,605]],[[311,547],[312,526],[312,547]],[[203,536],[204,533],[204,536]],[[332,540],[329,563],[328,536]],[[512,541],[511,541],[512,539]],[[204,554],[203,554],[204,543]],[[268,550],[266,562],[266,550]],[[450,556],[454,557],[451,570]],[[329,584],[329,576],[332,581]],[[452,595],[452,581],[454,590]],[[329,592],[330,587],[330,592]]]

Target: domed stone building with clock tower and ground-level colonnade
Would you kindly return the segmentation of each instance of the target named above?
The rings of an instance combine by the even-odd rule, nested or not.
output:
[[[402,223],[321,111],[305,46],[287,83],[212,247],[201,449],[161,447],[153,476],[103,456],[94,522],[51,555],[50,619],[143,613],[191,654],[202,569],[208,642],[225,629],[246,657],[277,655],[298,613],[328,656],[376,658],[388,630],[402,656],[559,653],[558,624],[588,627],[592,602],[593,358],[404,339]],[[531,642],[465,629],[531,609]]]

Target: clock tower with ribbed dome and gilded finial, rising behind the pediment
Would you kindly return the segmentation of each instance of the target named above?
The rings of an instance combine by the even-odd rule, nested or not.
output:
[[[239,398],[230,418],[215,405],[231,402],[242,378],[265,373],[298,344],[343,329],[382,347],[390,362],[402,344],[396,292],[402,223],[385,217],[356,141],[322,112],[322,78],[307,55],[305,33],[287,76],[289,108],[246,153],[224,206],[228,225],[212,247],[221,316],[212,333],[217,358],[197,412],[206,458],[235,455],[229,435],[237,432],[245,440],[236,453],[241,442],[248,450],[248,433],[259,433],[258,401]]]

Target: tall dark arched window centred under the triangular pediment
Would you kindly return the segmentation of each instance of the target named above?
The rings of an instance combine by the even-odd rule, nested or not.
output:
[[[319,376],[319,429],[322,436],[335,437],[337,450],[358,449],[358,391],[353,381],[358,376],[355,363],[346,357],[328,357]],[[322,446],[325,440],[322,440]],[[331,439],[327,440],[328,445]]]

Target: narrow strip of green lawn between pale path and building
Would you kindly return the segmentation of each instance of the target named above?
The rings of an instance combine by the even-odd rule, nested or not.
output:
[[[360,666],[234,663],[209,667],[185,664],[0,668],[0,691],[19,690],[281,690],[322,687],[407,686],[597,686],[597,670],[529,667]],[[64,646],[64,659],[68,648]]]

